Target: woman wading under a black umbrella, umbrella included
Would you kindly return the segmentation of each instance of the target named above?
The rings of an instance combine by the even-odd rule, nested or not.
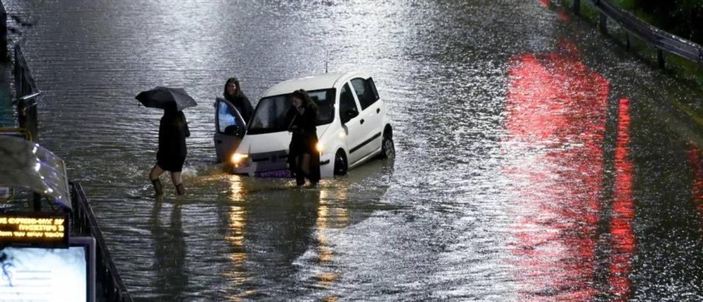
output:
[[[159,150],[156,153],[156,164],[149,173],[149,180],[154,185],[157,196],[164,194],[164,188],[159,176],[165,171],[171,172],[171,180],[178,195],[186,194],[186,188],[181,181],[183,162],[186,161],[188,150],[186,138],[191,136],[183,108],[195,106],[195,100],[181,88],[157,87],[144,91],[136,96],[147,107],[157,107],[164,110],[164,116],[159,123]]]

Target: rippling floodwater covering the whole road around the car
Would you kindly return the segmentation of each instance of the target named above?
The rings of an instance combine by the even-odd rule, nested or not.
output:
[[[690,86],[549,1],[4,1],[41,143],[91,198],[143,301],[699,301],[703,127]],[[11,21],[11,25],[16,23]],[[396,159],[319,188],[214,164],[226,78],[257,100],[362,69]],[[183,86],[188,195],[156,201],[158,110]]]

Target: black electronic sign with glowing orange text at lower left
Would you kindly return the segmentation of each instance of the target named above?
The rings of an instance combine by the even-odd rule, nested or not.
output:
[[[68,247],[66,214],[0,214],[0,247]]]

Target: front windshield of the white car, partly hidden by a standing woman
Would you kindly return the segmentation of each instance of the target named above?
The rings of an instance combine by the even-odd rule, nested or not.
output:
[[[308,91],[310,98],[317,104],[318,126],[330,124],[335,119],[335,89],[322,89]],[[254,112],[249,125],[248,134],[261,134],[287,131],[288,123],[285,113],[290,110],[292,101],[291,93],[280,96],[269,96],[259,100],[257,110]]]

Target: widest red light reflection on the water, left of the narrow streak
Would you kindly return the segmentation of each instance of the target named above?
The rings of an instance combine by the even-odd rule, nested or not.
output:
[[[510,62],[505,130],[520,300],[591,300],[610,92],[576,46]]]

